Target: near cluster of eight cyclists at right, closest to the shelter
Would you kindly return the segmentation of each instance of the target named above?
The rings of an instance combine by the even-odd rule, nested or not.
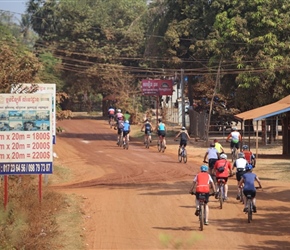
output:
[[[242,137],[237,131],[237,128],[233,128],[232,132],[228,135],[227,141],[231,139],[231,150],[233,147],[237,149],[240,148],[240,142]],[[206,159],[208,158],[208,161]],[[224,153],[222,145],[218,140],[210,143],[210,147],[207,149],[204,155],[204,162],[208,163],[207,165],[202,165],[200,167],[200,173],[198,173],[192,182],[189,193],[196,195],[196,211],[195,215],[199,215],[199,195],[206,194],[206,212],[205,212],[205,225],[208,225],[208,216],[209,216],[209,192],[210,189],[213,190],[215,198],[218,197],[217,183],[221,180],[225,183],[224,185],[224,200],[228,199],[228,177],[234,174],[236,169],[236,180],[237,180],[237,200],[240,200],[240,195],[243,193],[245,197],[250,195],[253,201],[253,212],[257,212],[256,208],[256,187],[255,181],[258,182],[259,188],[262,188],[260,179],[252,171],[255,168],[256,159],[255,155],[250,151],[248,145],[242,146],[242,151],[238,153],[237,159],[233,162],[233,165],[230,161],[227,160],[227,155]],[[196,192],[194,192],[196,189]],[[242,192],[241,192],[242,191]],[[244,203],[243,212],[247,212],[247,204]]]

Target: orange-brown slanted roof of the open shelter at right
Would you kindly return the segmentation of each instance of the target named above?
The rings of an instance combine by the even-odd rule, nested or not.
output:
[[[235,117],[240,120],[253,119],[254,121],[260,121],[265,118],[279,115],[288,111],[290,111],[290,95],[284,97],[278,102],[237,114]]]

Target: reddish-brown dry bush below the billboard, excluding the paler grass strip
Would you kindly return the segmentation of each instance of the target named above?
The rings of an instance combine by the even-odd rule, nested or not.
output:
[[[3,189],[0,193],[3,197]],[[49,190],[43,190],[40,203],[36,177],[10,176],[9,203],[0,208],[0,249],[57,249],[55,214],[63,204],[62,196]]]

